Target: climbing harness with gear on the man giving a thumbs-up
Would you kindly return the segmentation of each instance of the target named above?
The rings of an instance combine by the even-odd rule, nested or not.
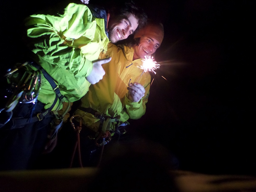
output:
[[[36,67],[38,70],[26,70],[26,65],[32,65]],[[24,73],[15,73],[18,70],[22,70]],[[36,121],[42,121],[42,119],[47,117],[55,117],[57,119],[60,119],[61,122],[58,125],[53,125],[51,129],[51,133],[48,135],[48,138],[53,139],[56,136],[57,131],[61,127],[62,119],[65,113],[67,113],[69,106],[65,110],[64,114],[59,115],[57,110],[59,109],[62,102],[65,102],[67,98],[65,98],[61,93],[59,86],[56,85],[53,78],[38,64],[34,62],[25,62],[21,65],[19,65],[16,69],[8,72],[5,77],[7,79],[10,79],[12,75],[20,75],[20,80],[16,83],[11,84],[11,88],[9,89],[9,94],[11,96],[9,97],[9,100],[7,101],[7,104],[4,108],[0,110],[1,119],[4,119],[3,122],[0,122],[0,128],[5,126],[8,122],[12,121],[11,126],[9,129],[15,129],[18,127],[22,127],[28,123],[35,123]],[[50,83],[52,86],[56,97],[51,105],[50,108],[44,110],[41,113],[38,113],[37,115],[34,115],[33,117],[13,117],[13,110],[17,106],[17,104],[28,104],[32,103],[33,105],[36,105],[37,103],[37,97],[40,92],[40,86],[41,86],[41,76],[44,75],[46,80]],[[17,78],[19,79],[19,78]],[[55,104],[57,103],[59,99],[59,105],[57,106],[57,109],[55,111],[51,111]]]

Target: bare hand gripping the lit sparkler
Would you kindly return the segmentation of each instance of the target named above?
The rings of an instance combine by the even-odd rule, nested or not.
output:
[[[128,89],[128,99],[132,102],[139,102],[141,98],[145,95],[145,88],[142,84],[137,82],[129,83]]]

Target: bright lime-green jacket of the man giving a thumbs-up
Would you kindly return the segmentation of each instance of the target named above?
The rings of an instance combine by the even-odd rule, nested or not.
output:
[[[104,19],[93,17],[86,5],[70,3],[63,15],[32,15],[26,26],[37,62],[53,77],[61,94],[71,102],[79,100],[90,86],[86,77],[92,61],[107,50]],[[38,100],[49,108],[55,96],[43,77]]]

